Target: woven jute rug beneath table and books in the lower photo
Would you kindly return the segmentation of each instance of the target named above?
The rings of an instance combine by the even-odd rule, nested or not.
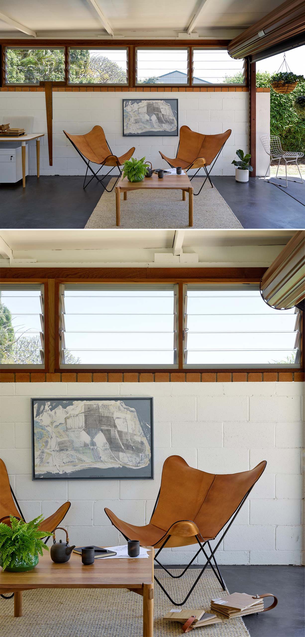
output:
[[[158,575],[160,571],[157,571]],[[173,599],[182,598],[194,583],[198,569],[191,569],[180,580],[166,573],[160,582]],[[158,577],[157,575],[157,577]],[[195,587],[185,608],[209,610],[212,597],[223,594],[212,571],[207,570]],[[143,601],[125,589],[41,589],[23,594],[23,616],[13,617],[13,599],[1,599],[1,637],[141,637]],[[162,617],[173,608],[155,583],[154,637],[183,634],[181,624]],[[241,617],[223,620],[205,628],[196,628],[194,637],[247,637]]]

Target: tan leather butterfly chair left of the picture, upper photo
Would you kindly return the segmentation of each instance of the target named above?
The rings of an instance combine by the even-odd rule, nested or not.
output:
[[[83,180],[83,189],[85,190],[85,188],[87,188],[89,183],[92,182],[92,179],[95,177],[97,181],[102,184],[103,188],[107,190],[107,192],[112,192],[115,184],[120,178],[120,175],[122,175],[120,166],[124,164],[124,161],[131,158],[136,148],[133,146],[130,150],[127,150],[127,153],[121,155],[120,157],[117,157],[117,155],[113,155],[101,126],[94,126],[92,128],[92,131],[86,132],[85,135],[71,135],[69,132],[66,131],[64,131],[64,134],[66,135],[68,140],[71,141],[71,144],[74,146],[75,150],[77,150],[78,154],[82,157],[87,166],[85,179]],[[94,164],[101,164],[101,168],[99,168],[95,173],[93,168],[90,166],[90,162],[94,162]],[[107,175],[104,175],[100,179],[99,177],[97,177],[97,173],[99,173],[103,166],[111,166],[111,169],[110,171],[108,171]],[[120,174],[118,175],[118,179],[113,184],[111,190],[108,190],[106,186],[104,186],[103,180],[111,173],[113,168],[115,168],[116,166]],[[93,177],[91,177],[89,182],[87,182],[85,185],[88,169],[93,173]]]

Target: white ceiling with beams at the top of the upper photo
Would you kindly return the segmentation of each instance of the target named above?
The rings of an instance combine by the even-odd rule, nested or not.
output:
[[[0,38],[234,38],[282,0],[0,0]],[[201,8],[202,7],[202,8]],[[7,24],[6,18],[19,24]],[[30,36],[33,37],[34,36]],[[182,37],[180,35],[180,37]]]

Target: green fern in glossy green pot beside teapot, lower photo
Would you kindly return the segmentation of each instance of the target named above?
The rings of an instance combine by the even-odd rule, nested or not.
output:
[[[43,548],[47,551],[49,548],[41,538],[52,535],[51,531],[39,531],[42,515],[31,522],[24,522],[10,515],[10,521],[11,526],[0,522],[0,557],[3,570],[15,560],[27,562],[38,553],[43,555]]]

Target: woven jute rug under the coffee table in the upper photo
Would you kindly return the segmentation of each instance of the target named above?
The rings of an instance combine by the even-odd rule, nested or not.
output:
[[[166,177],[164,177],[166,179]],[[110,189],[115,179],[108,184]],[[198,192],[203,178],[196,178]],[[115,228],[115,189],[104,191],[89,217],[86,228]],[[181,190],[134,190],[121,194],[121,228],[188,228],[188,194],[182,201]],[[194,228],[242,228],[230,206],[216,188],[206,182],[200,195],[194,196]]]

